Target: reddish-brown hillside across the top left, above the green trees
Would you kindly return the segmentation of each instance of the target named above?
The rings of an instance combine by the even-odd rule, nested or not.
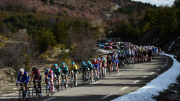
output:
[[[2,11],[31,12],[94,20],[114,5],[108,0],[1,0]]]

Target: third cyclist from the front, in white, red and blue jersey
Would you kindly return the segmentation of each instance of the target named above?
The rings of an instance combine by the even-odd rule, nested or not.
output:
[[[52,90],[54,92],[54,83],[53,83],[54,74],[53,74],[53,71],[51,69],[47,68],[44,74],[45,74],[45,83],[47,84],[47,79],[50,79],[50,83],[52,84]]]

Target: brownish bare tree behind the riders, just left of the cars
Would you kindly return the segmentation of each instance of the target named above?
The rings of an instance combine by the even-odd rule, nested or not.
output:
[[[95,53],[95,42],[96,38],[90,29],[81,30],[80,33],[76,33],[74,28],[69,31],[70,41],[69,43],[77,44],[72,60],[76,62],[87,61],[92,58]]]

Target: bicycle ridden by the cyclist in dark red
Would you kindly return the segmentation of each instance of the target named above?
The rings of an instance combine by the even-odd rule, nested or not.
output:
[[[32,97],[36,98],[38,96],[40,98],[41,97],[41,95],[40,95],[41,92],[40,92],[40,88],[36,87],[37,86],[36,82],[37,82],[37,80],[34,81],[34,86],[32,88]]]

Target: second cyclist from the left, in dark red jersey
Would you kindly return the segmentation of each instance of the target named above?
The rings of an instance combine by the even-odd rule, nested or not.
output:
[[[35,87],[35,80],[37,80],[38,87],[40,89],[40,96],[42,96],[42,90],[41,90],[41,79],[42,79],[42,77],[41,77],[41,72],[36,67],[32,68],[32,74],[31,74],[31,80],[30,81],[32,81],[32,78],[33,78],[34,87]]]

